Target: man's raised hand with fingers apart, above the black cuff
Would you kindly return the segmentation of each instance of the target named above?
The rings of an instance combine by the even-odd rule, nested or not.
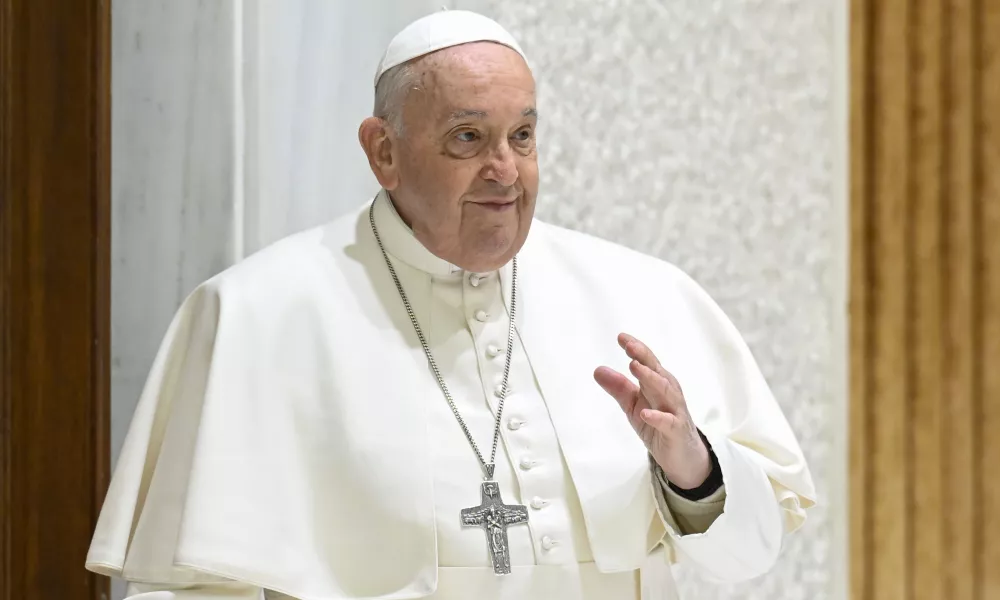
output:
[[[618,401],[667,479],[681,489],[698,487],[711,474],[712,462],[680,384],[636,338],[620,334],[618,345],[632,359],[629,371],[639,385],[610,367],[599,367],[594,379]]]

